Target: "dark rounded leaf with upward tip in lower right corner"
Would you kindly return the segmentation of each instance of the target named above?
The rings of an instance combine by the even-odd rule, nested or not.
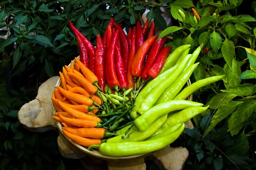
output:
[[[238,155],[244,155],[249,150],[249,141],[243,133],[236,137],[236,140],[233,145],[233,150]]]

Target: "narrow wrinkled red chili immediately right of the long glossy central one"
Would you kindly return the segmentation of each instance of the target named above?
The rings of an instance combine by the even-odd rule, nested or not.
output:
[[[120,40],[118,40],[118,42],[120,42]],[[122,54],[121,54],[121,47],[119,43],[116,44],[115,62],[116,62],[116,75],[118,77],[118,81],[120,85],[119,88],[123,90],[127,88],[128,82],[127,82],[125,66],[124,66]]]

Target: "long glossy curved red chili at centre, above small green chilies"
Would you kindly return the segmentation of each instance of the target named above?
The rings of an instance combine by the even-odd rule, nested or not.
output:
[[[119,30],[117,30],[115,33],[113,33],[113,39],[111,40],[108,51],[106,54],[106,73],[108,74],[106,76],[108,86],[110,88],[114,88],[117,90],[119,81],[116,76],[116,65],[115,65],[115,49],[116,49],[116,43],[119,36]]]

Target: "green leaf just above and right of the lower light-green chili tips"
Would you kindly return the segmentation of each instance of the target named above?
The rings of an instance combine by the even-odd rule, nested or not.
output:
[[[236,94],[222,92],[213,96],[212,99],[210,99],[210,101],[207,103],[207,105],[209,105],[209,108],[218,109],[221,107],[221,105],[226,104],[236,96]]]

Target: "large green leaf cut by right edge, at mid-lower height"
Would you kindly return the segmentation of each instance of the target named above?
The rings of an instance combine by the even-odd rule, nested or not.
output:
[[[245,100],[227,120],[229,130],[248,119],[256,109],[256,100]]]

